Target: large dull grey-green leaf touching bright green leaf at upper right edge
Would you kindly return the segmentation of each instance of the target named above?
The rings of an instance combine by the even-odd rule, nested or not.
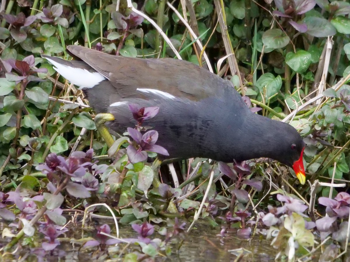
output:
[[[323,17],[306,16],[303,22],[307,25],[306,33],[315,37],[327,37],[336,34],[335,27]]]

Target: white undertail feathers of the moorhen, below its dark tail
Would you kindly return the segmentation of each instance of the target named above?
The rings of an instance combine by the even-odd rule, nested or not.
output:
[[[62,65],[50,58],[46,59],[55,66],[54,69],[61,74],[62,77],[80,88],[92,88],[99,82],[106,80],[106,78],[98,72],[91,73],[86,69]]]

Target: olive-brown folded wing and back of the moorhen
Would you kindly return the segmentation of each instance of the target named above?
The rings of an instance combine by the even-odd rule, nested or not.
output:
[[[183,60],[113,56],[78,45],[67,50],[109,79],[122,97],[135,97],[137,88],[150,88],[198,101],[219,95],[223,86],[232,87],[229,81]]]

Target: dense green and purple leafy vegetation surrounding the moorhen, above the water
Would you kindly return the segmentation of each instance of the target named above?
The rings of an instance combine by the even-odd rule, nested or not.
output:
[[[139,252],[124,250],[127,261],[169,254],[166,244],[186,241],[188,228],[174,218],[191,221],[198,209],[208,224],[221,226],[222,235],[230,227],[239,228],[241,238],[265,231],[276,253],[289,261],[320,247],[313,231],[341,244],[325,249],[332,250],[333,258],[346,251],[350,3],[146,0],[135,1],[132,8],[121,0],[117,11],[117,2],[1,3],[0,217],[12,222],[3,226],[2,250],[19,245],[23,235],[21,245],[27,248],[54,250],[64,233],[58,225],[70,214],[62,214],[63,208],[104,203],[119,223],[133,224],[138,233],[127,241],[138,243]],[[162,167],[160,183],[146,163],[156,156],[154,143],[146,143],[147,133],[142,137],[140,126],[134,131],[131,126],[133,139],[122,136],[108,151],[83,93],[41,57],[70,59],[65,51],[70,44],[128,57],[181,57],[213,70],[231,81],[257,114],[300,130],[308,182],[300,185],[292,169],[266,159],[234,164],[194,159],[174,163],[170,172]],[[156,114],[131,110],[139,124]],[[141,158],[133,158],[135,148]],[[107,153],[109,158],[101,157]],[[110,216],[106,206],[94,212]],[[167,225],[160,230],[164,239],[149,238],[154,232],[150,223]],[[96,239],[84,248],[105,250],[118,242],[101,232],[110,233],[110,227],[99,225]],[[47,240],[36,246],[42,233]]]

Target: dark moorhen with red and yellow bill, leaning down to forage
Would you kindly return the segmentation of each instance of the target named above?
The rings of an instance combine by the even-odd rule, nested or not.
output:
[[[128,104],[159,107],[146,123],[159,133],[168,158],[203,157],[233,162],[267,157],[293,167],[305,183],[304,143],[293,126],[254,114],[231,82],[173,58],[113,56],[82,46],[67,51],[79,60],[43,56],[79,86],[96,112],[109,112],[106,125],[125,132],[136,122]]]

